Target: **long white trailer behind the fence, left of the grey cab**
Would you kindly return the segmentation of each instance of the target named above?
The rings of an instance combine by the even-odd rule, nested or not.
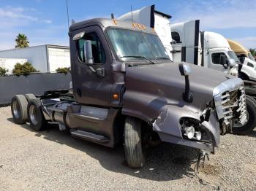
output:
[[[0,58],[23,58],[41,72],[53,72],[59,67],[70,66],[69,47],[39,45],[34,47],[1,50]]]

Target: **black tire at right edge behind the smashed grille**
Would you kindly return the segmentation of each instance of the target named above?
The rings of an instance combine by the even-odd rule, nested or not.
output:
[[[256,127],[256,102],[255,100],[246,95],[246,109],[247,109],[247,122],[245,125],[234,124],[233,133],[244,135],[251,132]]]

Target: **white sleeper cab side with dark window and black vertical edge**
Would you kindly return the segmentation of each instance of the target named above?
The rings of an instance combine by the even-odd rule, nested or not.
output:
[[[173,61],[200,65],[200,20],[190,20],[170,26],[173,44]]]

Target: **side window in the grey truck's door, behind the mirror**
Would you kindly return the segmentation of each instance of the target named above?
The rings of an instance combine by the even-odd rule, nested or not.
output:
[[[105,52],[96,33],[88,33],[85,34],[82,39],[78,39],[77,47],[79,60],[82,63],[86,63],[86,58],[84,55],[84,43],[88,40],[91,41],[91,50],[92,56],[94,58],[94,63],[105,63]]]

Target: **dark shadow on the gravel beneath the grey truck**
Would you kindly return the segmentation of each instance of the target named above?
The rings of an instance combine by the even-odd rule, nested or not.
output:
[[[13,122],[12,118],[7,120]],[[100,165],[108,171],[155,181],[169,181],[181,179],[184,176],[195,176],[192,163],[195,163],[197,158],[197,149],[175,144],[160,144],[147,150],[147,161],[143,168],[132,169],[124,161],[124,150],[121,145],[111,149],[88,141],[75,139],[69,133],[59,131],[59,128],[53,125],[48,125],[46,130],[40,132],[31,129],[29,124],[20,125],[20,127],[31,130],[35,133],[35,136],[42,136],[43,139],[55,141],[58,144],[65,144],[85,152],[87,155],[98,160]]]

